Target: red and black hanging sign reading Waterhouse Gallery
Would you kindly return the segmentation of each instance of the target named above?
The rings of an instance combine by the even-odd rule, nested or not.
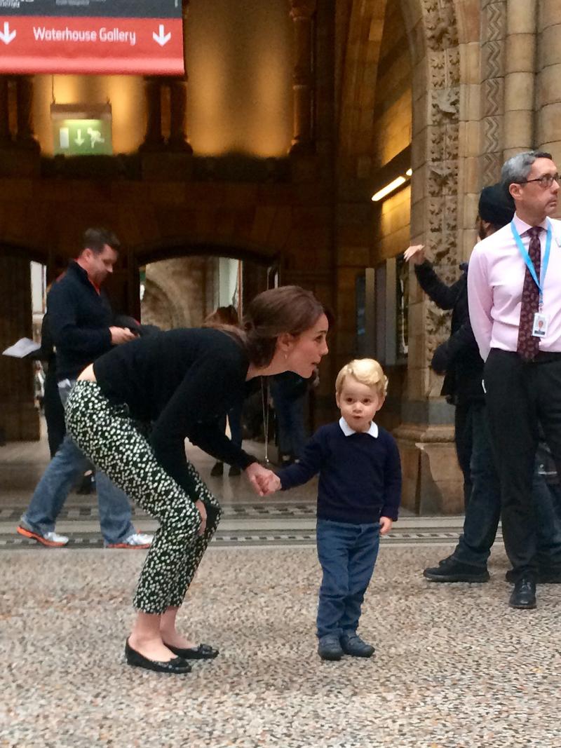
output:
[[[0,73],[183,72],[181,0],[0,0]]]

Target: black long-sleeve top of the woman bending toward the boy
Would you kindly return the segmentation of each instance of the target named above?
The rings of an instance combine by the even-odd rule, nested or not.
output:
[[[151,422],[156,459],[189,495],[185,439],[242,470],[257,462],[224,434],[218,417],[242,403],[248,354],[221,330],[159,332],[116,346],[93,364],[102,392],[126,404],[135,420]]]

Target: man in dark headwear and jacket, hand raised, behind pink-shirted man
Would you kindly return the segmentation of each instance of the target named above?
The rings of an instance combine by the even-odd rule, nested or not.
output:
[[[514,215],[514,204],[501,185],[485,187],[479,197],[479,236],[484,238]],[[442,343],[432,358],[432,369],[445,374],[442,393],[456,404],[456,442],[465,485],[470,487],[466,497],[464,532],[453,554],[438,566],[426,568],[423,575],[432,582],[486,582],[489,579],[487,560],[497,534],[500,518],[500,482],[494,465],[491,436],[488,432],[485,392],[482,387],[483,361],[479,356],[468,314],[467,266],[462,278],[453,286],[446,286],[424,259],[422,248],[411,247],[405,257],[412,260],[423,290],[443,308],[453,308],[450,338]],[[449,293],[447,294],[446,291]],[[453,307],[444,303],[456,302]],[[458,417],[458,408],[461,414]],[[458,434],[457,429],[465,429]],[[462,457],[460,458],[460,454]],[[462,465],[462,460],[464,464]],[[533,497],[539,516],[540,579],[561,581],[561,516],[557,497],[536,464]],[[507,574],[507,579],[510,579]]]

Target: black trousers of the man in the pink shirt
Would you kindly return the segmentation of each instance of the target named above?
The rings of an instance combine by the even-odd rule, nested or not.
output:
[[[528,364],[517,353],[492,349],[485,389],[506,553],[518,577],[532,577],[538,562],[532,483],[539,423],[561,475],[561,355],[539,354]]]

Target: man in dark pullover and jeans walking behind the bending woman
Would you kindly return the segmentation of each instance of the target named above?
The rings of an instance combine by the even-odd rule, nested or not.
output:
[[[57,356],[58,394],[64,405],[79,373],[96,358],[133,340],[126,328],[112,325],[113,313],[101,286],[113,272],[119,242],[105,229],[88,229],[82,250],[67,272],[52,286],[47,298],[49,329]],[[43,473],[17,532],[51,548],[67,545],[55,533],[55,522],[70,488],[88,467],[88,460],[68,436]],[[129,500],[105,476],[97,473],[99,523],[105,545],[111,548],[148,548],[151,537],[135,532]]]

